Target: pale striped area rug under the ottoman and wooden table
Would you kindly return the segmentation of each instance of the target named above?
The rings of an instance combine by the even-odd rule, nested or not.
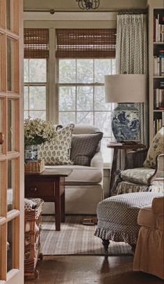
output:
[[[66,216],[61,231],[55,230],[54,216],[42,217],[41,251],[46,256],[88,255],[104,256],[101,239],[95,237],[96,226],[81,224],[84,216]],[[124,242],[110,242],[109,255],[131,255],[131,247]]]

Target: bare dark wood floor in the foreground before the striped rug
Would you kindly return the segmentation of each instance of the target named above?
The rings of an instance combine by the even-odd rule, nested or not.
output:
[[[38,279],[26,284],[162,284],[155,276],[133,272],[133,256],[55,256],[38,265]]]

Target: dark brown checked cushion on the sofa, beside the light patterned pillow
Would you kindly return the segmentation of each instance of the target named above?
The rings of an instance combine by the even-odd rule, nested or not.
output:
[[[102,132],[72,135],[71,160],[74,165],[90,166],[102,137]]]

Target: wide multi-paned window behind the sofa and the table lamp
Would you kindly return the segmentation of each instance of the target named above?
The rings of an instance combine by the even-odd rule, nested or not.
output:
[[[109,162],[106,143],[112,137],[110,116],[114,104],[105,103],[106,74],[115,74],[115,59],[58,60],[58,122],[97,126],[104,133],[104,162]]]

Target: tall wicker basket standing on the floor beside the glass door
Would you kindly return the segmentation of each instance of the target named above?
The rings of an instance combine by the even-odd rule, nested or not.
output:
[[[25,210],[24,214],[24,276],[38,277],[36,265],[38,258],[42,259],[42,253],[40,253],[40,230],[42,222],[41,212],[44,201],[42,199],[38,200],[38,206],[30,211]]]

